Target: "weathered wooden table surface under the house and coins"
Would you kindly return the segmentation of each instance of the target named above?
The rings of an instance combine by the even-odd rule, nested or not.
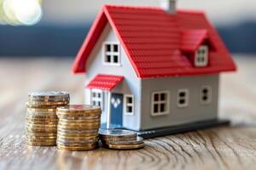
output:
[[[219,115],[230,127],[147,139],[142,150],[68,152],[24,144],[24,104],[35,90],[67,90],[83,103],[72,59],[0,59],[0,169],[255,169],[256,58],[236,61],[239,71],[221,77]]]

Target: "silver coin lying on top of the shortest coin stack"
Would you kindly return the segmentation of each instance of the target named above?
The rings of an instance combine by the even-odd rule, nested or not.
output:
[[[102,136],[109,136],[109,137],[134,137],[137,136],[137,133],[131,130],[125,129],[100,129],[99,134]]]

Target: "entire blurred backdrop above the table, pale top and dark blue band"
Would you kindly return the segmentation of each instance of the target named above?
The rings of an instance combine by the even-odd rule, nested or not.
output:
[[[0,0],[0,57],[74,57],[104,3],[160,5],[158,0]],[[205,10],[233,54],[255,54],[255,0],[177,0],[177,8]]]

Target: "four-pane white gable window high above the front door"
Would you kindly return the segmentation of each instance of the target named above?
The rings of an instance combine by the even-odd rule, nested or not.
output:
[[[103,63],[107,65],[120,65],[119,43],[104,43]]]

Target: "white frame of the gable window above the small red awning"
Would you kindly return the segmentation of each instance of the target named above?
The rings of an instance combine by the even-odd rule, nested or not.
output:
[[[107,45],[110,45],[111,51],[107,52]],[[118,52],[113,52],[113,45],[118,45]],[[121,55],[120,55],[120,44],[119,42],[103,42],[102,44],[102,63],[103,65],[121,66]],[[107,55],[110,55],[110,62],[106,61]],[[113,62],[113,56],[118,56],[118,63]]]

